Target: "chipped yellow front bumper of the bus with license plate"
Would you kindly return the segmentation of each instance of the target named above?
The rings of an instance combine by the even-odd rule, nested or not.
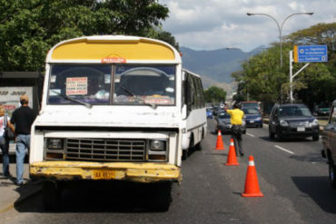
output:
[[[52,180],[182,180],[181,168],[171,164],[130,162],[41,161],[30,164],[30,177]]]

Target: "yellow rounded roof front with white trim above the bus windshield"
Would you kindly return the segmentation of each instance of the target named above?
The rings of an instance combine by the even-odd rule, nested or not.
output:
[[[84,36],[66,40],[49,51],[46,63],[181,63],[172,45],[126,35]]]

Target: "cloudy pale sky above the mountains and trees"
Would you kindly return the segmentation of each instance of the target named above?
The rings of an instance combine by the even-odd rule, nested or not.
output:
[[[169,18],[163,30],[170,32],[180,46],[193,50],[226,47],[250,52],[261,45],[279,42],[282,37],[319,23],[336,23],[336,0],[159,0],[167,5]],[[267,14],[252,15],[246,13]]]

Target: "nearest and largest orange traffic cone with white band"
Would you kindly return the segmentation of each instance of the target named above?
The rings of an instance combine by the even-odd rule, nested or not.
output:
[[[247,167],[245,190],[242,197],[263,197],[259,189],[257,171],[255,170],[253,157],[249,157],[249,166]]]

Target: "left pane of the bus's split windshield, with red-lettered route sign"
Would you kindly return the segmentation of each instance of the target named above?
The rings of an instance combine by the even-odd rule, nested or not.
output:
[[[53,65],[49,104],[109,104],[111,65]]]

